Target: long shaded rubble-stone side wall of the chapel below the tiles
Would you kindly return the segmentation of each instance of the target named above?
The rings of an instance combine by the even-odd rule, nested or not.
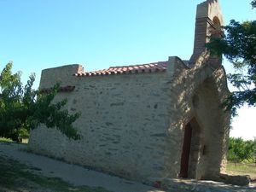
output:
[[[73,141],[44,126],[32,131],[33,151],[122,177],[162,177],[169,97],[166,73],[77,78],[67,97],[82,139]],[[172,146],[168,146],[172,148]],[[175,146],[173,146],[175,148]]]

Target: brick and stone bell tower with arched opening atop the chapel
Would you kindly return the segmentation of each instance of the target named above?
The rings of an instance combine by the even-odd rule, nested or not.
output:
[[[189,65],[195,65],[196,60],[206,49],[206,44],[212,32],[220,30],[224,26],[224,20],[221,13],[218,0],[207,0],[197,5],[195,18],[195,40],[193,55],[189,60]],[[217,58],[212,58],[217,59]],[[218,59],[219,60],[219,59]]]

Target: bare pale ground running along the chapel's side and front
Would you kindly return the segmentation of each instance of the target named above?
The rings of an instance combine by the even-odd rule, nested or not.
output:
[[[18,160],[21,164],[37,167],[36,173],[44,177],[59,177],[63,181],[72,183],[75,186],[87,185],[90,187],[102,187],[113,192],[254,192],[255,186],[238,187],[224,183],[211,181],[178,180],[167,179],[171,188],[160,190],[154,187],[125,180],[120,177],[113,177],[102,172],[89,170],[82,166],[67,164],[60,160],[54,160],[38,154],[27,153],[26,144],[0,143],[0,157]],[[1,165],[0,165],[1,166]],[[173,186],[175,186],[173,188]],[[0,186],[1,191],[1,186]],[[4,190],[9,191],[9,190]],[[28,191],[29,192],[29,191]]]

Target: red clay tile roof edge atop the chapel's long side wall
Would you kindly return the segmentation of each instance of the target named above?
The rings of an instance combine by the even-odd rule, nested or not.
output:
[[[108,69],[97,70],[94,72],[79,72],[75,76],[100,76],[113,74],[128,74],[128,73],[156,73],[166,72],[167,61],[153,62],[135,66],[109,67]]]

